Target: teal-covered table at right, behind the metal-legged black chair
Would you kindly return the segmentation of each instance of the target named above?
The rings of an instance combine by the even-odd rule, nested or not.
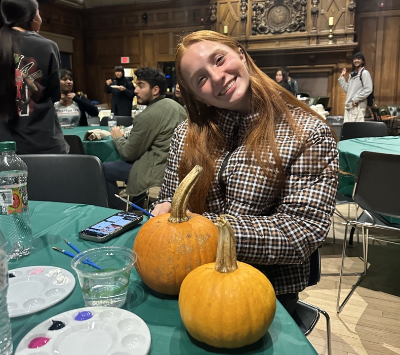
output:
[[[400,154],[400,136],[346,139],[339,142],[338,150],[340,169],[356,175],[360,155],[364,151]],[[338,191],[340,193],[353,196],[354,184],[353,175],[339,174]]]

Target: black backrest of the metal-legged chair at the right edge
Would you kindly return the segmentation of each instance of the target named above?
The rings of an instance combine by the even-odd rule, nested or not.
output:
[[[362,152],[354,200],[364,210],[400,218],[400,155]]]

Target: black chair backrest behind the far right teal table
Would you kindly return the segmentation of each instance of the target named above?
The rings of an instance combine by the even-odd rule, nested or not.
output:
[[[340,140],[364,137],[386,137],[388,126],[384,122],[345,122]]]

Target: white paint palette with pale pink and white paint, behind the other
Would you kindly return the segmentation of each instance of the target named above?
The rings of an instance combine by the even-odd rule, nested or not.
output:
[[[35,313],[60,302],[75,287],[69,271],[54,266],[27,266],[8,271],[7,307],[10,317]]]

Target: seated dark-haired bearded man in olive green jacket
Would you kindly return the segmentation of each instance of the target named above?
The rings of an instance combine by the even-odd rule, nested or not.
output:
[[[135,94],[139,105],[147,105],[133,120],[128,139],[120,127],[111,132],[116,149],[125,161],[103,163],[108,204],[118,209],[120,200],[117,181],[127,181],[129,196],[139,197],[153,186],[161,186],[164,169],[175,127],[186,119],[185,109],[165,98],[165,75],[157,68],[144,67],[135,71]]]

